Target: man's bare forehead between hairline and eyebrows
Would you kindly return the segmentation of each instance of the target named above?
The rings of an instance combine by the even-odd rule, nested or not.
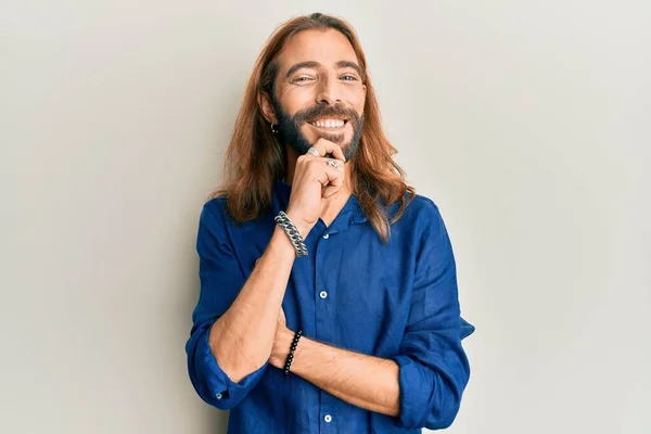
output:
[[[281,73],[296,63],[309,61],[326,67],[332,67],[340,61],[358,63],[348,38],[334,29],[301,31],[285,42],[278,58]]]

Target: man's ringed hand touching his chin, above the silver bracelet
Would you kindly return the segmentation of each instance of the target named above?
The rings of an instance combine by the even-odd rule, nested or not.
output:
[[[321,216],[322,199],[336,194],[344,186],[346,158],[342,148],[326,139],[317,140],[312,148],[320,156],[307,153],[297,158],[286,210],[303,238]],[[333,158],[326,158],[327,154],[332,154]],[[335,159],[339,167],[328,166],[329,159]]]

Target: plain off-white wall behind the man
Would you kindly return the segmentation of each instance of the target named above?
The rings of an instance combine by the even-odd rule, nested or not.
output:
[[[3,1],[0,432],[226,431],[186,368],[199,212],[267,37],[316,11],[452,239],[449,432],[651,432],[649,4]]]

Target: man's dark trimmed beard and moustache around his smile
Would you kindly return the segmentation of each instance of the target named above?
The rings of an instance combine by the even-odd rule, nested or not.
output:
[[[320,138],[342,146],[346,162],[350,161],[350,158],[357,153],[359,142],[361,141],[363,115],[357,114],[357,112],[355,112],[353,108],[348,110],[342,105],[318,104],[314,107],[298,111],[296,114],[294,114],[294,116],[290,116],[284,110],[282,110],[280,103],[276,99],[276,95],[271,98],[271,103],[273,104],[273,108],[276,110],[276,114],[278,116],[278,136],[284,143],[292,146],[292,149],[298,155],[307,153],[307,150],[309,150],[314,144],[305,138],[301,131],[301,127],[310,120],[327,118],[328,116],[345,116],[348,119],[347,123],[353,127],[353,138],[350,138],[348,143],[344,143],[345,136],[343,132],[332,135],[321,132]]]

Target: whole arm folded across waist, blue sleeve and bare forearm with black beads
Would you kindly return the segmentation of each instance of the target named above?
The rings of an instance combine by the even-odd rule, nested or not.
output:
[[[392,359],[302,337],[292,372],[358,407],[396,417],[408,429],[449,426],[470,378],[461,340],[474,327],[460,317],[451,245],[438,209],[424,230],[408,326]],[[269,362],[282,369],[293,332],[278,324]]]

